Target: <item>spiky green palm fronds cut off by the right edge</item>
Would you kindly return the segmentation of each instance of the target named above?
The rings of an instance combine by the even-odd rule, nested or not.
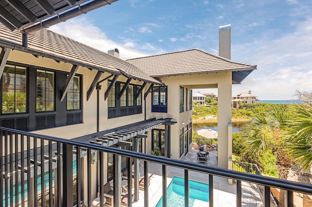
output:
[[[291,111],[284,141],[302,170],[312,165],[312,93],[297,91],[298,101]]]

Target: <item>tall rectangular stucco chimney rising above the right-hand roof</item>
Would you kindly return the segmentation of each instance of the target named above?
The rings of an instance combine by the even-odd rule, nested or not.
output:
[[[231,24],[219,27],[219,56],[231,59]]]

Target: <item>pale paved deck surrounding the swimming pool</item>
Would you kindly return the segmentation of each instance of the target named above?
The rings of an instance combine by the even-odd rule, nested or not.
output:
[[[185,157],[185,161],[197,163],[198,150],[191,150]],[[215,150],[209,152],[207,156],[209,166],[216,166]],[[203,165],[206,165],[203,163]],[[155,207],[162,196],[162,173],[161,165],[149,163],[149,206]],[[184,170],[168,166],[167,168],[167,186],[174,176],[184,177]],[[190,172],[190,179],[208,184],[208,175],[204,173]],[[144,191],[139,190],[139,200],[134,202],[133,207],[144,207]],[[214,176],[214,207],[235,207],[236,206],[236,185],[228,184],[228,179]],[[245,207],[263,207],[259,190],[254,184],[242,182],[242,206]],[[194,207],[208,207],[208,203],[195,200]]]

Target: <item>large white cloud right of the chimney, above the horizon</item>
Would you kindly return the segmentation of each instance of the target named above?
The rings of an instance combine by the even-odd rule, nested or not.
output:
[[[257,65],[233,91],[250,89],[260,100],[294,99],[296,90],[312,92],[312,19],[297,24],[294,32],[277,39],[267,34],[253,43],[232,47],[232,57]]]

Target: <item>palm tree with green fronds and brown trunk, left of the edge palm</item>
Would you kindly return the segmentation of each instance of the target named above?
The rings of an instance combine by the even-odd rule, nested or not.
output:
[[[292,167],[292,158],[282,139],[288,120],[289,105],[273,104],[267,116],[256,115],[243,128],[249,149],[256,155],[260,156],[270,149],[276,151],[275,164],[280,179],[287,179]],[[280,190],[279,205],[285,205],[285,190]]]

